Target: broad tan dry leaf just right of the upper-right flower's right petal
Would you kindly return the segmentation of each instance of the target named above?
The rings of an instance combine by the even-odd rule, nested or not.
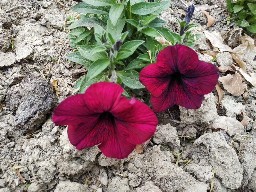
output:
[[[243,82],[239,73],[228,74],[227,76],[219,77],[218,80],[221,81],[224,89],[232,95],[239,96],[244,93]]]

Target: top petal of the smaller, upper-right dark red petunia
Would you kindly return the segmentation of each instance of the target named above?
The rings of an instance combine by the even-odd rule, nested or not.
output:
[[[179,71],[185,74],[194,69],[198,62],[197,53],[185,45],[165,47],[157,56],[158,65],[173,73]]]

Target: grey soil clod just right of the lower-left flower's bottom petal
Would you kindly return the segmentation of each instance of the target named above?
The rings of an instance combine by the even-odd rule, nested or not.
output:
[[[178,152],[182,149],[176,128],[171,126],[170,123],[157,126],[153,141],[156,144],[170,146],[174,152]]]

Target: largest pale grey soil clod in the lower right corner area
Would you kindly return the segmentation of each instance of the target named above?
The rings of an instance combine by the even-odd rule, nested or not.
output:
[[[238,189],[243,179],[243,169],[235,150],[225,140],[226,132],[205,133],[193,144],[193,162],[200,166],[211,165],[216,169],[226,188]],[[197,152],[198,151],[198,152]],[[200,152],[199,152],[200,151]]]

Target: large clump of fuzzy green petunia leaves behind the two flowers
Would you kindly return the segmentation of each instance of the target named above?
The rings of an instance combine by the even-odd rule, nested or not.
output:
[[[71,9],[82,13],[67,29],[70,46],[75,49],[66,57],[88,70],[75,84],[75,91],[84,93],[92,84],[110,81],[121,84],[124,95],[131,97],[144,86],[139,82],[140,70],[156,62],[158,53],[166,47],[156,40],[163,37],[171,45],[193,47],[199,38],[189,29],[197,24],[182,22],[180,35],[162,27],[158,18],[170,1],[149,0],[83,0]]]

